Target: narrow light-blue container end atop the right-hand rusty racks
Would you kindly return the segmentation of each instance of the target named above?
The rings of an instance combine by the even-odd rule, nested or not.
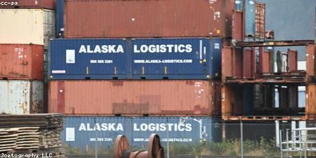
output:
[[[245,0],[245,35],[254,37],[256,33],[256,4],[254,0]]]

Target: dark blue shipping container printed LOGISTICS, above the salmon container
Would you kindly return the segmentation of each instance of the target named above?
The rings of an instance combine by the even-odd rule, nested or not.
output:
[[[209,79],[220,77],[222,40],[132,40],[134,79]]]

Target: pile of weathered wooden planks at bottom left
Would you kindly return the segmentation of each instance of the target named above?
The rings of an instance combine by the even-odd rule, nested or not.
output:
[[[61,130],[61,114],[0,114],[0,153],[66,157]]]

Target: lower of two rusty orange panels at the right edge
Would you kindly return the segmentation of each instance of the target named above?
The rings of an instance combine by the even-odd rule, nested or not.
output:
[[[306,86],[306,116],[316,116],[316,85]]]

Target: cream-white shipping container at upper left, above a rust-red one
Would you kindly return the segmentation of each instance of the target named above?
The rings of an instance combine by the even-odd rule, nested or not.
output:
[[[55,36],[55,12],[43,9],[1,9],[0,44],[49,46]]]

